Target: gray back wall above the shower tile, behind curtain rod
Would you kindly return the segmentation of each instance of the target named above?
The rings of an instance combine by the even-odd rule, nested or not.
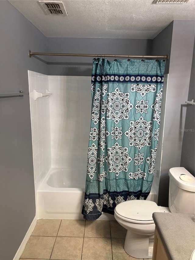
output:
[[[47,38],[48,52],[151,55],[152,40]],[[91,76],[93,57],[48,57],[49,75]],[[114,58],[108,58],[113,60]]]

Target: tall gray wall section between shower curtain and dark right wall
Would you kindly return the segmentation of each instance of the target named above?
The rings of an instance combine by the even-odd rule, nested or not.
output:
[[[170,24],[169,26],[172,26]],[[162,43],[160,38],[162,39]],[[159,39],[157,39],[159,38]],[[164,31],[154,39],[153,49],[170,49],[158,205],[168,206],[168,171],[180,166],[186,105],[194,45],[194,21],[173,21],[172,39]],[[168,41],[167,43],[165,43]]]

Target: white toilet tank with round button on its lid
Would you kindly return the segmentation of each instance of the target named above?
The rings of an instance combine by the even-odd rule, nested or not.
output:
[[[195,177],[183,167],[169,170],[168,207],[175,213],[195,213]]]

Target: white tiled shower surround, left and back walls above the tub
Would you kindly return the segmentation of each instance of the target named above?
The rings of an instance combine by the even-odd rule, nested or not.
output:
[[[29,71],[29,84],[30,92],[34,89],[39,92],[48,89],[53,93],[49,98],[41,97],[36,101],[30,95],[37,189],[51,167],[80,167],[80,178],[85,180],[91,77],[48,76]]]

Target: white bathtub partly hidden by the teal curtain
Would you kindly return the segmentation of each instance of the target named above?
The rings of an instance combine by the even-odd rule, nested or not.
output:
[[[37,191],[38,218],[83,219],[85,178],[86,168],[51,168]],[[156,200],[153,187],[147,200]],[[115,220],[104,212],[98,219]]]

